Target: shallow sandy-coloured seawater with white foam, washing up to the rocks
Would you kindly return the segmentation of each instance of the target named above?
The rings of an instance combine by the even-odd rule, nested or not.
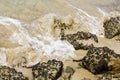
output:
[[[95,46],[108,46],[120,53],[120,42],[105,39],[102,27],[119,12],[120,0],[0,0],[0,64],[14,66],[22,57],[27,66],[47,58],[75,58],[73,46],[61,41],[59,30],[52,28],[55,18],[66,24],[73,21],[67,33],[91,32],[100,40]]]

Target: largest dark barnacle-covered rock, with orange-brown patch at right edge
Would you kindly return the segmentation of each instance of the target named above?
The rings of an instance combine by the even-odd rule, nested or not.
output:
[[[116,63],[109,64],[112,59],[120,59],[120,55],[108,47],[91,47],[86,56],[79,60],[79,64],[90,72],[99,74],[115,70]],[[119,66],[118,69],[120,69]]]

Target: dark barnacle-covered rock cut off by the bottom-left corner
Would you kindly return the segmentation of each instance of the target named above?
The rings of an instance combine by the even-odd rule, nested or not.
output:
[[[0,66],[0,80],[28,80],[28,78],[14,68]]]

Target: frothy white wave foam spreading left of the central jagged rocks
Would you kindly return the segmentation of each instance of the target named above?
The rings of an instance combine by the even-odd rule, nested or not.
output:
[[[59,59],[70,59],[75,57],[74,48],[67,41],[55,40],[51,34],[52,24],[54,21],[54,15],[46,15],[36,21],[27,24],[27,28],[24,24],[21,24],[19,20],[11,19],[8,17],[0,17],[0,24],[3,24],[7,29],[12,30],[12,35],[8,37],[8,40],[19,43],[18,47],[15,48],[0,48],[1,53],[16,55],[15,57],[25,56],[29,63],[28,65],[36,64],[40,61],[42,55],[46,55],[53,58]],[[13,27],[14,24],[15,26]],[[24,27],[22,27],[24,25]],[[34,36],[31,36],[29,28],[34,29]],[[40,33],[39,33],[40,32]],[[4,58],[5,55],[2,55]],[[30,60],[33,59],[34,60]],[[5,59],[3,59],[5,62]],[[3,63],[1,63],[3,64]]]

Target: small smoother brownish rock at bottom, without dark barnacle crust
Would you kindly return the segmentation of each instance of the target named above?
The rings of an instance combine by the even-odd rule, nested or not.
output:
[[[75,70],[72,67],[67,66],[59,80],[71,80],[71,77],[74,74],[74,72]]]

